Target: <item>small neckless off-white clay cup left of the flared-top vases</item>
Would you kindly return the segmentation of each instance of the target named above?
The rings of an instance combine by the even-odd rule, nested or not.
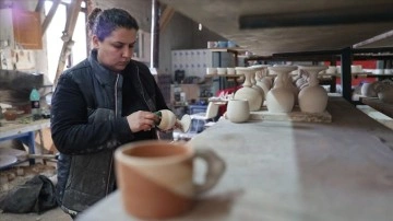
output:
[[[250,117],[250,106],[247,100],[229,100],[226,118],[231,123],[243,123]]]

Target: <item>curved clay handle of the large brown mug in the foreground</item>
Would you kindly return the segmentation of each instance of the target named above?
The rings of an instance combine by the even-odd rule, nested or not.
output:
[[[195,184],[196,194],[202,194],[213,188],[225,172],[225,162],[213,150],[199,149],[195,150],[195,158],[206,161],[207,168],[204,184]]]

